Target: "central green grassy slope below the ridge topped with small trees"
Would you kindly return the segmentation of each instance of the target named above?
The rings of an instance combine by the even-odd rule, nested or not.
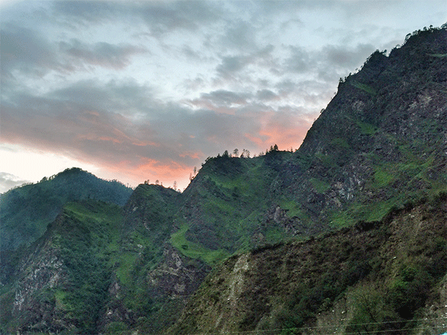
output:
[[[277,168],[291,152],[270,152],[263,157],[243,159],[216,157],[208,160],[186,189],[175,224],[179,230],[170,242],[184,255],[208,264],[259,243],[277,242],[284,231],[265,224],[272,205],[268,193]]]

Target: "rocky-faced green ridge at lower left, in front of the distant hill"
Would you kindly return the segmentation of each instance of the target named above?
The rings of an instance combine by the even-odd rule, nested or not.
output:
[[[65,205],[19,263],[17,280],[3,286],[14,294],[2,296],[2,324],[25,333],[96,334],[120,231],[118,205],[92,200]],[[12,332],[10,327],[2,334]]]

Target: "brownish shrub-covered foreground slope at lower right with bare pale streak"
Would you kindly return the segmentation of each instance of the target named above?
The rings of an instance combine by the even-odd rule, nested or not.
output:
[[[352,316],[331,318],[327,332],[411,334],[426,302],[436,299],[433,289],[447,270],[447,228],[439,207],[446,200],[446,194],[439,194],[394,209],[378,222],[358,222],[317,239],[231,257],[204,281],[188,313],[170,332],[301,334],[341,304],[343,313],[350,310]],[[416,230],[420,218],[424,229]],[[241,270],[243,262],[249,266]],[[242,287],[235,292],[235,285]],[[231,301],[237,301],[237,315]],[[230,317],[233,325],[210,317],[217,313]]]

